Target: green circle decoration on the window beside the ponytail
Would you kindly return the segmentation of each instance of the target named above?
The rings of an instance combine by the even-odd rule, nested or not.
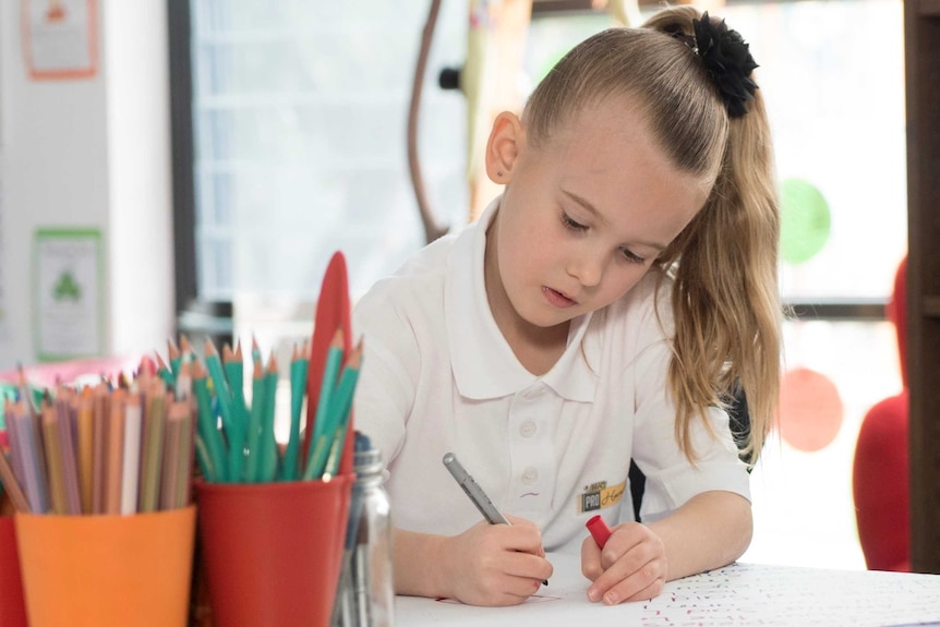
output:
[[[786,179],[780,193],[780,254],[791,264],[808,262],[829,241],[829,203],[805,179]]]

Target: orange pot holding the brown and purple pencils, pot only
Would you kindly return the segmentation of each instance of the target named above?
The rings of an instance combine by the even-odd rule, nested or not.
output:
[[[195,506],[15,519],[31,627],[186,625]]]

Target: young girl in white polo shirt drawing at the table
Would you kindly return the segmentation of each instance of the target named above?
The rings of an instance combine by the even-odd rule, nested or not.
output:
[[[751,536],[778,394],[778,204],[756,67],[689,7],[568,53],[486,148],[502,196],[354,311],[358,429],[387,460],[401,594],[521,603],[580,546],[592,601],[649,599]],[[508,516],[490,526],[453,451]],[[630,460],[646,474],[634,521]],[[600,550],[585,522],[614,528]]]

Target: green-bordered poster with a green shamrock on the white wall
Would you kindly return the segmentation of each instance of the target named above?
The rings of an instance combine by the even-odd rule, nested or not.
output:
[[[33,252],[39,360],[100,355],[105,327],[100,231],[38,229]]]

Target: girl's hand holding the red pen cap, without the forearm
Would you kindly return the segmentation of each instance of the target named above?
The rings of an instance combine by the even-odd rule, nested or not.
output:
[[[666,581],[666,550],[659,535],[639,522],[614,527],[601,550],[590,535],[581,543],[581,572],[593,581],[588,599],[607,605],[652,599]]]

